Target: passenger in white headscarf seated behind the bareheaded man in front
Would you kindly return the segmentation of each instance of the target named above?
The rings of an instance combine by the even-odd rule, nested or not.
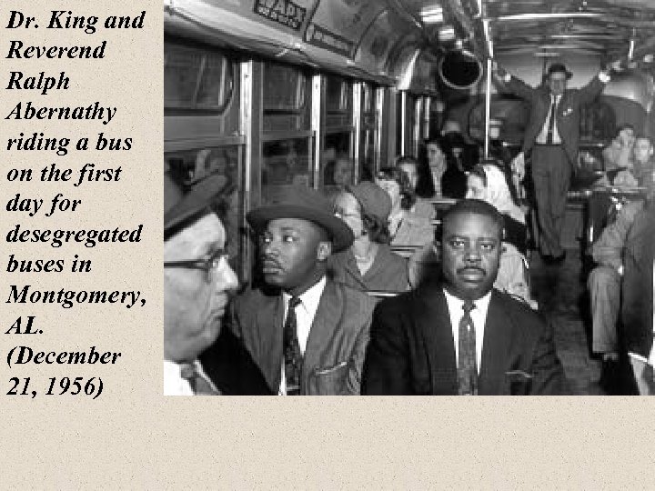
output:
[[[505,221],[499,274],[494,286],[509,295],[519,296],[536,308],[529,294],[525,215],[512,200],[506,175],[497,165],[476,165],[469,174],[468,188],[467,198],[481,199],[493,205]]]

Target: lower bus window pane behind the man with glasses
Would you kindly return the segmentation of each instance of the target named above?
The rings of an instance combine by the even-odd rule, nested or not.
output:
[[[243,189],[239,175],[239,161],[243,148],[239,145],[211,146],[169,152],[165,157],[165,171],[173,175],[177,182],[182,182],[188,189],[202,183],[209,175],[224,175],[227,185],[226,193],[220,196],[227,205],[225,216],[222,217],[227,232],[227,253],[232,268],[243,277],[243,251],[245,237],[239,234],[239,216],[242,214],[241,203]]]

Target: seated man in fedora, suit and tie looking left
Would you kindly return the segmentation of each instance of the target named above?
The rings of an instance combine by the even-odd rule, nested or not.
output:
[[[262,286],[237,296],[229,328],[206,353],[225,394],[359,394],[374,300],[326,275],[353,234],[328,199],[290,186],[247,214],[259,237]]]

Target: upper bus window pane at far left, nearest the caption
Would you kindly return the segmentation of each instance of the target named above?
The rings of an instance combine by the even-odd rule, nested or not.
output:
[[[233,88],[232,65],[207,50],[164,45],[164,106],[223,113]]]

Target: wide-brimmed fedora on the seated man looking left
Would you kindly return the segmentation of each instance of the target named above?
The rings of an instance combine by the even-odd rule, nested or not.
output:
[[[288,185],[285,193],[276,195],[269,205],[259,206],[246,215],[255,230],[263,230],[276,218],[301,218],[323,227],[332,239],[333,252],[347,249],[353,233],[346,223],[334,215],[327,197],[305,185]]]

